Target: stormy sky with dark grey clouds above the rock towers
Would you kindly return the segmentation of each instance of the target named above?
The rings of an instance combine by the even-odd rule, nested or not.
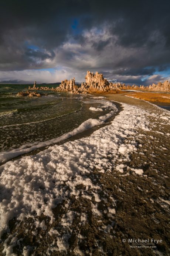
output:
[[[0,81],[170,81],[168,0],[1,0]]]

